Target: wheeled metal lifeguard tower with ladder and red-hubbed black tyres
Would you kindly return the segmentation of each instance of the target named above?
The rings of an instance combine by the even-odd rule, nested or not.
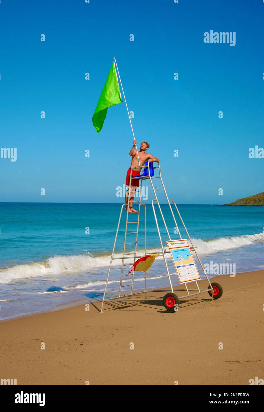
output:
[[[154,167],[154,169],[156,169],[156,171],[158,172],[158,176],[152,176],[151,177],[151,173],[150,173],[150,161],[148,161],[147,162],[147,170],[148,170],[148,176],[144,176],[144,177],[133,177],[133,180],[136,180],[136,179],[138,179],[138,180],[140,180],[140,194],[139,194],[139,200],[138,201],[134,201],[133,203],[138,203],[138,213],[128,213],[128,208],[127,208],[127,211],[125,211],[126,212],[126,225],[125,225],[125,233],[124,233],[124,246],[123,246],[123,253],[122,253],[122,256],[121,257],[114,257],[114,251],[115,251],[115,247],[116,247],[116,243],[117,243],[117,236],[118,236],[118,233],[119,233],[119,229],[120,229],[120,222],[121,222],[121,216],[122,216],[122,212],[124,211],[124,206],[126,206],[126,203],[124,203],[122,206],[121,206],[121,211],[120,211],[120,215],[119,215],[119,220],[118,220],[118,224],[117,224],[117,231],[116,231],[116,235],[115,235],[115,239],[114,239],[114,246],[113,246],[113,250],[112,250],[112,255],[111,255],[111,259],[110,259],[110,265],[109,265],[109,269],[108,269],[108,274],[107,274],[107,279],[106,279],[106,283],[105,283],[105,290],[104,290],[104,294],[103,294],[103,300],[102,300],[102,304],[101,304],[101,312],[103,312],[103,304],[104,304],[104,302],[109,302],[109,301],[113,301],[113,300],[115,300],[115,301],[118,301],[118,302],[127,302],[127,301],[129,301],[129,302],[131,302],[131,301],[154,301],[154,300],[162,300],[163,301],[163,304],[164,304],[164,307],[168,310],[168,311],[171,311],[171,312],[173,312],[173,311],[175,311],[176,310],[176,308],[178,308],[178,304],[179,304],[179,299],[178,299],[178,296],[177,295],[175,295],[175,293],[174,292],[176,292],[176,291],[186,291],[186,295],[184,295],[184,296],[180,296],[180,298],[182,299],[182,298],[186,298],[186,297],[190,297],[190,296],[194,296],[194,295],[200,295],[201,293],[206,293],[206,292],[208,292],[209,293],[209,295],[212,297],[212,300],[213,299],[219,299],[221,296],[222,296],[222,293],[223,293],[223,291],[222,291],[222,287],[218,284],[218,283],[210,283],[210,280],[208,279],[208,276],[207,276],[207,274],[206,274],[206,271],[204,270],[204,268],[203,268],[203,265],[202,265],[202,262],[201,262],[201,260],[200,260],[200,258],[199,258],[199,256],[198,256],[198,253],[197,253],[197,251],[196,251],[196,249],[195,249],[195,247],[194,247],[194,245],[193,245],[193,243],[192,243],[192,239],[190,238],[190,236],[189,236],[189,233],[188,233],[188,231],[187,231],[187,228],[186,228],[186,226],[185,226],[185,224],[184,224],[184,222],[183,222],[183,220],[182,220],[182,217],[181,217],[181,215],[180,215],[180,212],[179,212],[179,210],[178,210],[178,207],[176,206],[176,204],[175,204],[175,201],[173,201],[173,200],[170,200],[169,198],[168,198],[168,195],[167,195],[167,192],[166,192],[166,189],[165,189],[165,186],[164,186],[164,183],[163,183],[163,180],[162,180],[162,177],[161,177],[161,169],[160,169],[160,164],[159,164],[159,162],[154,162],[154,163],[157,163],[158,165],[157,166],[155,166]],[[134,167],[133,169],[137,169],[138,168],[138,166],[137,167]],[[132,170],[133,170],[132,169]],[[132,176],[132,173],[131,173],[131,175],[130,175],[130,180],[129,180],[129,187],[131,186],[131,176]],[[156,211],[155,211],[155,207],[154,207],[154,204],[157,204],[157,206],[158,206],[158,208],[159,208],[159,212],[160,212],[160,215],[161,215],[161,218],[162,218],[162,221],[163,221],[163,224],[164,224],[164,227],[165,227],[165,229],[166,229],[166,233],[167,233],[167,236],[168,236],[168,240],[169,241],[174,241],[175,239],[171,239],[171,235],[170,235],[170,233],[169,233],[169,230],[168,230],[168,227],[167,227],[167,224],[166,224],[166,221],[165,221],[165,218],[164,218],[164,214],[162,213],[162,210],[161,210],[161,206],[160,206],[160,204],[159,204],[159,199],[158,199],[158,197],[157,197],[157,192],[155,191],[155,188],[154,188],[154,185],[153,185],[153,179],[160,179],[160,181],[161,181],[161,185],[162,185],[162,187],[163,187],[163,189],[164,189],[164,193],[165,193],[165,196],[166,196],[166,200],[167,200],[167,202],[168,202],[168,206],[169,206],[169,209],[170,209],[170,211],[171,211],[171,214],[172,214],[172,217],[173,217],[173,220],[174,220],[174,223],[175,223],[175,227],[177,228],[177,232],[178,232],[178,236],[179,236],[179,239],[187,239],[187,241],[188,241],[188,244],[189,244],[189,248],[190,248],[190,250],[191,250],[191,254],[192,254],[192,252],[194,252],[195,254],[196,254],[196,257],[197,257],[197,259],[198,259],[198,261],[199,261],[199,264],[201,265],[201,269],[202,269],[202,271],[203,271],[203,274],[206,276],[206,279],[207,279],[207,281],[208,281],[208,289],[200,289],[199,288],[199,285],[198,285],[198,281],[197,280],[195,280],[195,281],[185,281],[185,283],[183,283],[184,284],[184,286],[185,286],[185,289],[173,289],[173,285],[172,285],[172,281],[171,281],[171,276],[177,276],[177,273],[174,273],[174,274],[171,274],[170,272],[169,272],[169,269],[168,269],[168,265],[167,265],[167,262],[166,262],[166,253],[170,253],[170,251],[167,251],[166,250],[166,248],[167,248],[167,246],[166,247],[164,247],[164,245],[163,245],[163,242],[162,242],[162,239],[161,239],[161,233],[160,233],[160,229],[159,229],[159,223],[158,223],[158,220],[157,220],[157,215],[156,215]],[[152,186],[152,190],[153,190],[153,193],[154,193],[154,199],[152,200],[152,209],[153,209],[153,213],[154,213],[154,219],[155,219],[155,222],[156,222],[156,225],[157,225],[157,232],[158,232],[158,235],[159,235],[159,241],[160,241],[160,245],[161,245],[161,251],[158,251],[158,252],[155,252],[155,253],[157,253],[157,255],[158,256],[162,256],[163,258],[164,258],[164,264],[165,264],[165,267],[166,267],[166,272],[167,272],[167,275],[168,275],[168,281],[169,281],[169,286],[170,286],[170,289],[169,290],[165,290],[165,292],[168,292],[164,297],[159,297],[159,298],[152,298],[152,297],[147,297],[147,293],[151,293],[151,292],[157,292],[157,290],[147,290],[147,273],[145,272],[145,289],[144,290],[142,290],[142,291],[140,291],[140,292],[136,292],[136,293],[133,293],[133,285],[134,285],[134,272],[132,271],[130,274],[124,274],[124,266],[128,266],[128,265],[130,265],[131,266],[131,262],[130,263],[126,263],[126,261],[127,261],[127,259],[129,259],[129,260],[133,260],[133,262],[135,263],[136,262],[136,260],[137,259],[139,259],[139,258],[143,258],[146,254],[147,254],[147,244],[146,244],[146,233],[147,233],[147,228],[146,228],[146,205],[144,204],[144,203],[142,203],[142,184],[143,184],[143,180],[150,180],[150,183],[151,183],[151,186]],[[127,203],[127,205],[129,206],[129,196],[128,196],[128,203]],[[173,207],[172,207],[173,206]],[[141,213],[141,208],[144,208],[144,233],[145,233],[145,255],[138,255],[138,252],[137,252],[137,246],[138,246],[138,232],[139,232],[139,226],[140,226],[140,213]],[[178,213],[178,217],[180,218],[180,220],[181,220],[181,222],[182,222],[182,225],[183,225],[183,227],[184,227],[184,229],[185,229],[185,232],[186,232],[186,234],[187,234],[187,237],[186,238],[182,238],[182,236],[181,236],[181,234],[180,234],[180,230],[179,230],[179,228],[178,228],[178,224],[177,224],[177,221],[176,221],[176,219],[175,219],[175,215],[174,215],[174,213],[173,213],[173,209],[174,209],[174,207],[175,207],[175,210],[176,210],[176,212]],[[131,216],[131,218],[133,219],[133,221],[129,221],[128,220],[128,216]],[[138,219],[135,221],[135,219],[134,219],[134,217],[135,216],[137,216],[138,217]],[[132,227],[132,229],[129,229],[129,231],[128,231],[128,225],[129,225],[129,228],[131,228]],[[132,225],[132,226],[131,226]],[[135,235],[135,241],[134,242],[127,242],[127,235]],[[178,239],[177,239],[178,240]],[[126,251],[126,246],[128,246],[128,245],[134,245],[134,250],[133,251]],[[192,247],[190,246],[190,245],[192,245]],[[154,253],[154,252],[152,252],[152,253]],[[110,298],[107,298],[107,299],[105,299],[105,295],[106,295],[106,293],[107,293],[107,285],[108,285],[108,281],[109,281],[109,276],[110,276],[110,272],[111,272],[111,269],[112,269],[112,262],[113,262],[113,260],[120,260],[121,261],[121,268],[120,268],[120,270],[121,270],[121,273],[120,273],[120,283],[119,283],[119,295],[116,297],[110,297]],[[130,277],[130,279],[131,279],[131,283],[129,283],[129,284],[123,284],[122,283],[122,281],[124,280],[124,278],[127,278],[127,277]],[[196,286],[196,288],[195,289],[189,289],[188,288],[188,286],[187,286],[187,283],[194,283],[195,284],[195,286]],[[128,287],[128,286],[131,286],[131,290],[128,290],[128,293],[125,293],[125,294],[123,294],[123,290],[122,290],[122,288],[124,288],[124,287]],[[181,286],[181,285],[180,285]],[[190,293],[191,292],[191,293]],[[145,293],[145,297],[137,297],[136,295],[137,294],[142,294],[142,293]]]

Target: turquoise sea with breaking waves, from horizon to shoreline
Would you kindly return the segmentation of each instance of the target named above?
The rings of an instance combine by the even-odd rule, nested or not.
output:
[[[0,203],[0,320],[100,299],[120,207],[98,203]],[[178,239],[168,205],[161,208],[171,238]],[[181,204],[178,208],[203,265],[228,264],[236,273],[264,269],[264,207]],[[146,210],[147,252],[151,253],[160,250],[160,243],[151,204]],[[157,215],[162,227],[158,211]],[[136,218],[135,213],[129,215],[129,220]],[[125,213],[116,256],[121,255],[123,247],[124,222]],[[182,238],[186,238],[179,219],[177,222]],[[161,235],[166,246],[163,227]],[[135,240],[135,235],[128,236],[127,242]],[[139,255],[143,249],[142,213]],[[175,274],[169,254],[167,262],[170,273]],[[119,263],[114,261],[109,293],[119,289]],[[129,266],[126,268],[129,270]],[[217,265],[214,270],[217,272]],[[216,272],[208,272],[208,276]],[[147,279],[150,289],[168,286],[162,258],[155,260]],[[178,284],[178,277],[172,275],[172,281]],[[143,287],[144,273],[136,272],[134,291]]]

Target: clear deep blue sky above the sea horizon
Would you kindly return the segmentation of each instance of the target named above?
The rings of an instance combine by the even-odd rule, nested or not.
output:
[[[262,192],[264,159],[248,150],[264,147],[263,18],[262,0],[2,0],[1,147],[16,147],[17,160],[0,159],[0,200],[122,201],[133,144],[124,103],[99,135],[91,122],[113,56],[170,198],[223,204]],[[211,29],[236,32],[236,45],[204,43]]]

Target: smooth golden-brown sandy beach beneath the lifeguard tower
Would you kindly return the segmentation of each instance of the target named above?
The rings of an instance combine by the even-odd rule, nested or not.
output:
[[[0,378],[17,385],[248,385],[264,375],[264,271],[211,281],[224,289],[220,300],[207,293],[180,300],[175,313],[157,302],[114,302],[100,314],[93,301],[89,311],[82,304],[2,321]]]

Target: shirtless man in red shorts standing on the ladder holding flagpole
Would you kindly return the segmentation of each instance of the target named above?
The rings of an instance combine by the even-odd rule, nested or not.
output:
[[[145,162],[147,162],[148,159],[150,159],[150,162],[159,162],[159,158],[158,157],[154,157],[153,155],[150,155],[150,153],[146,153],[147,149],[150,147],[150,145],[145,141],[142,142],[140,145],[140,150],[137,154],[137,151],[135,150],[136,147],[136,140],[134,140],[133,142],[133,147],[131,148],[129,155],[132,156],[132,161],[131,161],[131,166],[128,169],[127,173],[126,173],[126,185],[129,185],[129,179],[130,179],[130,174],[131,174],[131,169],[133,167],[138,166],[138,156],[139,156],[139,160],[140,160],[140,166],[137,169],[132,170],[132,177],[133,176],[138,176],[140,175],[140,171],[143,167],[143,165],[145,164]],[[133,206],[133,199],[135,196],[135,192],[137,190],[137,187],[139,187],[139,179],[131,179],[131,186],[128,188],[127,193],[131,194],[131,197],[129,198],[129,207],[128,207],[128,213],[138,213],[138,211],[136,211],[132,206]],[[128,195],[126,194],[126,203],[128,203]],[[127,205],[125,206],[126,210],[127,210]]]

